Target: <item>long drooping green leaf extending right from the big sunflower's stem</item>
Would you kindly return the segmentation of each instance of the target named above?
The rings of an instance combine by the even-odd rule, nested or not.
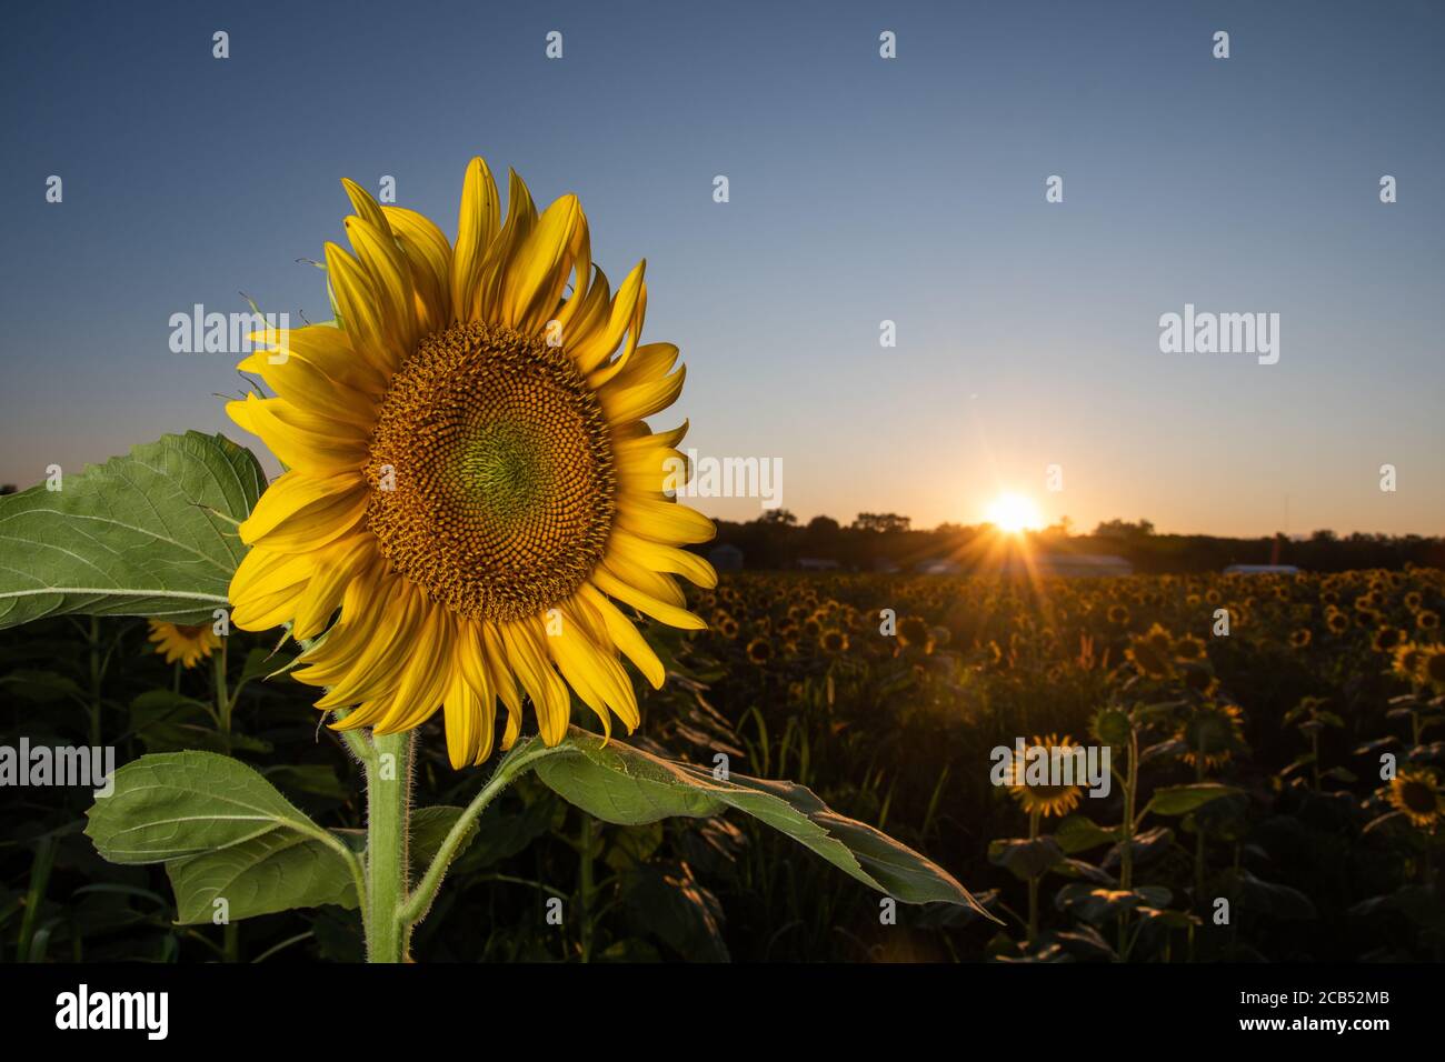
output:
[[[535,770],[562,799],[605,822],[640,825],[736,808],[896,900],[967,903],[993,918],[948,871],[873,826],[835,813],[792,782],[741,774],[721,780],[702,767],[604,743],[575,727],[558,750],[538,759]]]

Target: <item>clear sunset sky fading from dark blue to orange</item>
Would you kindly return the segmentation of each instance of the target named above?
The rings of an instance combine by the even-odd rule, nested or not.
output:
[[[257,445],[214,397],[236,358],[172,354],[169,316],[329,318],[296,260],[344,243],[340,178],[394,175],[452,234],[483,155],[577,192],[614,283],[647,257],[688,445],[782,458],[803,519],[974,523],[1019,490],[1084,527],[1438,535],[1442,51],[1423,0],[16,7],[0,481],[186,428]],[[1279,364],[1162,354],[1186,302],[1280,314]]]

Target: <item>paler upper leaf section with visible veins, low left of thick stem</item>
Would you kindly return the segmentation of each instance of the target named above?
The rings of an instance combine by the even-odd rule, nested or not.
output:
[[[165,863],[273,831],[321,826],[240,760],[215,753],[142,756],[116,772],[114,793],[87,812],[85,832],[111,863]]]

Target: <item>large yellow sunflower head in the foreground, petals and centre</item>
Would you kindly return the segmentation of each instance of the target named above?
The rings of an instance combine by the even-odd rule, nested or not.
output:
[[[275,350],[240,368],[277,397],[227,406],[289,468],[241,524],[234,623],[324,634],[293,675],[328,688],[316,708],[351,709],[338,728],[394,734],[441,707],[455,767],[491,754],[499,698],[503,748],[523,694],[548,746],[572,692],[631,731],[617,650],[655,688],[663,665],[616,603],[702,630],[673,577],[717,584],[681,548],[712,523],[663,493],[686,423],[644,423],[683,380],[676,347],[639,345],[646,263],[613,293],[577,197],[539,215],[513,173],[503,221],[481,159],[455,244],[342,184],[355,254],[325,249],[337,321],[253,337]]]

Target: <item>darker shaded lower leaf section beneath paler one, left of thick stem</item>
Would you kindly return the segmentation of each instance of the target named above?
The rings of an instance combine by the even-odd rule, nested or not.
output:
[[[166,864],[176,894],[176,920],[211,922],[215,900],[236,920],[295,907],[335,903],[355,907],[355,884],[345,860],[325,842],[290,829]]]

